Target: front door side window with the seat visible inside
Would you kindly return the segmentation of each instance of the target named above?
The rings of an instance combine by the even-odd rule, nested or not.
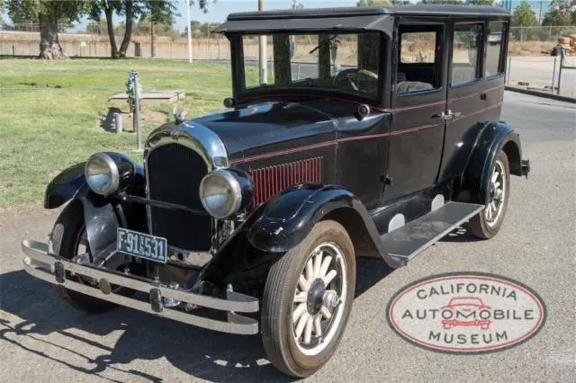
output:
[[[401,25],[396,92],[406,94],[440,87],[442,28]]]

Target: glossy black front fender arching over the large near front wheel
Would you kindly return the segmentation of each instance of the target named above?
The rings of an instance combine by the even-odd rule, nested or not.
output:
[[[337,211],[341,214],[333,214]],[[349,233],[354,231],[350,233],[353,242],[354,237],[358,242],[369,241],[387,263],[395,264],[384,251],[374,220],[362,202],[350,191],[334,185],[299,185],[278,194],[247,230],[247,240],[260,251],[284,253],[300,244],[323,218],[340,221]]]

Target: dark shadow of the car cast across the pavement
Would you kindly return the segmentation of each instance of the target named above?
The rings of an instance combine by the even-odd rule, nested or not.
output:
[[[357,274],[361,282],[356,284],[356,296],[390,272],[392,269],[381,261],[359,260]],[[115,370],[130,374],[132,379],[159,382],[166,379],[161,371],[150,375],[126,366],[130,368],[135,360],[166,358],[176,369],[199,379],[293,380],[266,360],[259,335],[212,332],[125,307],[90,315],[69,307],[48,283],[31,278],[23,270],[0,274],[0,280],[0,308],[12,315],[0,318],[0,342],[49,359],[47,368],[59,363],[103,379],[109,379],[106,376]],[[108,339],[101,343],[82,332]],[[107,345],[113,343],[111,336],[118,337],[113,347]],[[88,356],[94,352],[83,352],[86,349],[97,350],[97,356]]]

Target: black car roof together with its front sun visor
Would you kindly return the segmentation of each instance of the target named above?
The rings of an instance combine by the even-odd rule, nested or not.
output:
[[[420,4],[396,7],[347,7],[289,9],[264,12],[230,13],[226,22],[215,32],[263,31],[383,31],[392,35],[393,15],[427,16],[509,16],[508,10],[499,6]]]

